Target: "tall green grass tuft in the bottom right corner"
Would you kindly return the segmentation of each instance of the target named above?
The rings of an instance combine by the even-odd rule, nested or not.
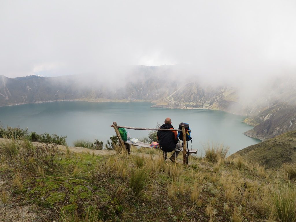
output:
[[[296,189],[292,184],[278,187],[274,195],[274,215],[282,222],[296,221]]]

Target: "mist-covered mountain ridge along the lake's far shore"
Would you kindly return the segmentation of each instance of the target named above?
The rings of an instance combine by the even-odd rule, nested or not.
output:
[[[147,101],[153,107],[213,109],[247,116],[244,122],[254,128],[244,134],[262,140],[296,130],[294,80],[277,78],[272,84],[265,84],[268,88],[258,90],[259,96],[242,97],[239,87],[209,84],[197,77],[188,81],[180,79],[180,73],[183,69],[178,66],[136,66],[128,78],[123,73],[115,78],[112,72],[97,78],[0,75],[0,106],[53,101]]]

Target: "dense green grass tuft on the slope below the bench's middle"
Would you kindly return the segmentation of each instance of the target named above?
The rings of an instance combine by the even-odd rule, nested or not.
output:
[[[129,185],[136,197],[139,197],[141,191],[146,186],[148,176],[149,173],[147,172],[146,168],[135,169],[131,172],[131,179]]]

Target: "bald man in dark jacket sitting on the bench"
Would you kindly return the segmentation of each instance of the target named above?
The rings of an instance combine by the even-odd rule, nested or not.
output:
[[[174,129],[172,126],[172,120],[170,118],[165,119],[165,124],[163,124],[161,129]],[[157,131],[157,139],[159,141],[160,149],[163,151],[163,159],[167,159],[167,152],[172,152],[176,149],[178,143],[177,131]],[[180,151],[175,151],[169,158],[173,163],[175,163],[176,158]]]

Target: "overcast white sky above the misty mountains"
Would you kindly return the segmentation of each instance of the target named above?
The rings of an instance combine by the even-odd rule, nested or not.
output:
[[[296,75],[295,12],[295,0],[0,0],[0,74],[184,64],[200,75]]]

